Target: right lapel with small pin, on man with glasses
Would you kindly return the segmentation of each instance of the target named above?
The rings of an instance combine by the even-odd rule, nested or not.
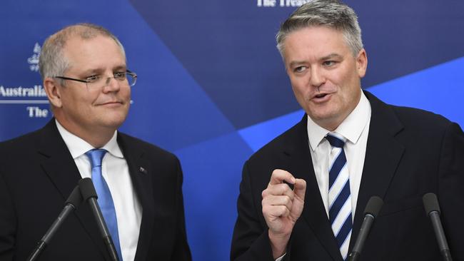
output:
[[[151,238],[153,237],[155,220],[154,206],[156,203],[153,197],[153,180],[151,178],[153,170],[151,170],[148,158],[144,157],[143,150],[137,149],[131,143],[128,143],[126,136],[122,133],[118,133],[118,144],[121,146],[124,158],[126,158],[133,189],[136,191],[138,201],[142,206],[142,220],[135,260],[146,260],[150,250]],[[162,183],[156,184],[161,185]]]

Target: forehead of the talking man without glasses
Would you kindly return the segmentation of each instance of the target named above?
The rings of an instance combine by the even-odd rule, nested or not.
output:
[[[283,44],[286,60],[293,56],[327,56],[349,51],[343,32],[327,26],[309,26],[293,31]]]

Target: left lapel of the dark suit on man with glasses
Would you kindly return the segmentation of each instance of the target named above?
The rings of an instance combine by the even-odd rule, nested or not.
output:
[[[52,118],[40,132],[38,153],[42,158],[41,167],[51,180],[51,183],[55,185],[56,190],[58,190],[63,197],[64,206],[64,201],[76,187],[78,181],[81,179],[81,174],[63,138],[61,138],[56,128],[55,119]],[[89,205],[82,203],[74,214],[79,219],[79,222],[81,222],[84,230],[89,234],[89,237],[91,237],[91,240],[98,246],[101,255],[103,255],[106,260],[109,260],[106,247]]]

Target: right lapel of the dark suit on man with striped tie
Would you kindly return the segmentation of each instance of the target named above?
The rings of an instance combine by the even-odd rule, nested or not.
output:
[[[360,225],[364,218],[365,205],[373,195],[384,198],[404,150],[403,145],[395,140],[395,135],[403,129],[403,125],[393,111],[372,94],[365,92],[365,96],[370,101],[372,116],[370,117],[368,143],[350,250],[358,237]]]

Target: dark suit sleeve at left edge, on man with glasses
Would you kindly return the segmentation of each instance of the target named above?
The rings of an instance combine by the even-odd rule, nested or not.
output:
[[[13,260],[16,215],[9,188],[0,170],[0,260]]]

